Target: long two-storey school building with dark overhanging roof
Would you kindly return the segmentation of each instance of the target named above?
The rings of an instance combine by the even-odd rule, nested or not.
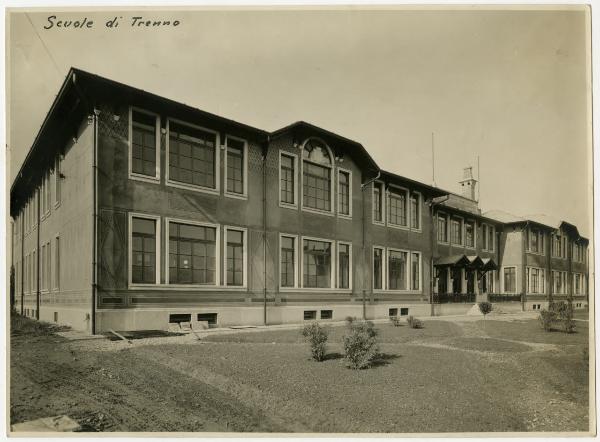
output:
[[[534,239],[527,220],[481,213],[470,169],[461,185],[384,171],[305,122],[267,132],[71,69],[11,187],[15,308],[98,333],[460,313],[494,296],[587,305],[574,226],[535,224]]]

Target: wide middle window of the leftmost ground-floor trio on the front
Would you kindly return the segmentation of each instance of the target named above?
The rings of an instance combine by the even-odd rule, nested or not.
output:
[[[216,284],[216,250],[215,227],[170,221],[169,283]]]

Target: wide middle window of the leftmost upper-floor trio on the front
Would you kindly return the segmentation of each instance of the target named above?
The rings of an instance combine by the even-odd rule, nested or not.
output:
[[[169,120],[169,180],[217,188],[217,134]]]

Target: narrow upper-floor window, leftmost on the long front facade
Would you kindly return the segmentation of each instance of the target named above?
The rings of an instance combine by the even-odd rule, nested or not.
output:
[[[131,172],[154,178],[157,168],[157,116],[131,110]]]

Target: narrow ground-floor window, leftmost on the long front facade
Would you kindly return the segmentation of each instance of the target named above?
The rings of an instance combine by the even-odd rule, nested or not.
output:
[[[156,220],[131,218],[131,282],[156,284]]]

